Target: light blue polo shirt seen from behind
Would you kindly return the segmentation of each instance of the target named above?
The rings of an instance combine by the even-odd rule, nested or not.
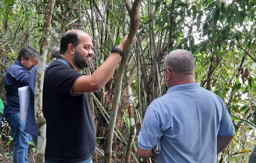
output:
[[[138,145],[149,150],[160,139],[157,163],[216,163],[217,135],[234,134],[219,96],[199,83],[183,84],[171,87],[148,106]]]

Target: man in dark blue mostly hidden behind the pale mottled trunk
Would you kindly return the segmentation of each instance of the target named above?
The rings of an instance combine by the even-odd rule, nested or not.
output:
[[[50,59],[52,60],[50,63],[46,63],[45,69],[56,60],[56,56],[60,55],[60,43],[54,43],[51,48],[51,52],[49,53]],[[26,120],[25,132],[31,134],[33,142],[37,148],[37,126],[35,120],[35,112],[34,112],[34,103],[35,103],[35,85],[36,85],[36,72],[37,66],[33,67],[29,72],[28,77],[26,78],[27,85],[31,88],[30,100],[28,105],[28,115]]]

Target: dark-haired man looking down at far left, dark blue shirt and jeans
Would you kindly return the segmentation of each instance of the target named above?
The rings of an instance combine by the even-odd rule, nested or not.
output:
[[[26,121],[20,120],[20,102],[18,88],[26,86],[26,77],[29,70],[36,66],[38,52],[31,46],[20,50],[17,60],[6,70],[4,88],[6,90],[6,103],[4,117],[11,127],[13,135],[13,162],[28,163],[28,141],[31,136],[24,132]]]

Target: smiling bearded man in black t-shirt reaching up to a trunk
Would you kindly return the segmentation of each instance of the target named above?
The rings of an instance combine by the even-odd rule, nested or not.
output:
[[[91,63],[94,54],[91,37],[81,30],[69,30],[62,36],[60,56],[56,56],[44,75],[45,163],[92,162],[96,134],[85,93],[96,92],[108,82],[126,41],[127,36],[111,49],[108,59],[92,75],[85,75],[78,70]]]

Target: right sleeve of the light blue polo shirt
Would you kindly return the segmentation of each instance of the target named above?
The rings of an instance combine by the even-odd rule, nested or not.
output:
[[[220,128],[218,131],[218,135],[222,137],[232,136],[235,134],[235,127],[232,123],[227,107],[225,106],[224,103],[222,108],[223,112],[220,120]]]

